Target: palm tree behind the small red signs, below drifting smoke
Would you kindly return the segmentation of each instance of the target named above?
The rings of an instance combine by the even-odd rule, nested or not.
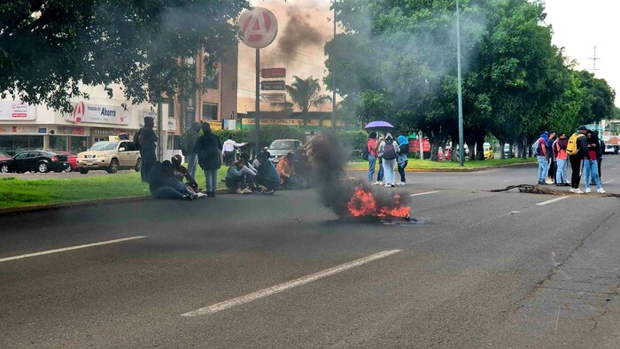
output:
[[[321,94],[321,84],[319,79],[313,79],[312,76],[307,79],[301,79],[293,76],[291,85],[286,85],[286,91],[291,97],[291,102],[275,104],[283,107],[285,110],[292,111],[293,107],[297,107],[301,112],[301,118],[304,124],[310,119],[310,108],[324,105],[331,101],[331,97]]]

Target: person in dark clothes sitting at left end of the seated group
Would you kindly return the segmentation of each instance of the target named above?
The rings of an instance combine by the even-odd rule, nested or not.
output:
[[[151,197],[155,199],[179,199],[193,200],[198,195],[191,192],[178,179],[174,178],[172,163],[156,161],[149,175],[149,189]]]

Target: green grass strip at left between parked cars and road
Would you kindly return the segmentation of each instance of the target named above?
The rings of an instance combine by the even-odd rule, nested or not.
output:
[[[218,187],[226,168],[218,173]],[[196,181],[205,187],[205,174],[198,168]],[[105,174],[78,178],[23,180],[15,177],[0,179],[0,208],[40,204],[58,204],[97,198],[122,198],[150,195],[149,185],[140,182],[136,172]]]

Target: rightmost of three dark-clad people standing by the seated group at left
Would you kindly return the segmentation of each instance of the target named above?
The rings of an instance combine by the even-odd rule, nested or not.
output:
[[[221,140],[220,137],[213,135],[211,126],[207,122],[204,122],[201,128],[203,135],[198,137],[198,143],[196,143],[198,164],[205,171],[206,195],[215,198],[217,171],[221,167]]]

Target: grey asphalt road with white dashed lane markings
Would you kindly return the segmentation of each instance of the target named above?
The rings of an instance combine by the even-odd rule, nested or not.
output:
[[[315,190],[3,215],[0,347],[620,346],[619,198],[488,191],[535,167],[407,177],[422,223]]]

